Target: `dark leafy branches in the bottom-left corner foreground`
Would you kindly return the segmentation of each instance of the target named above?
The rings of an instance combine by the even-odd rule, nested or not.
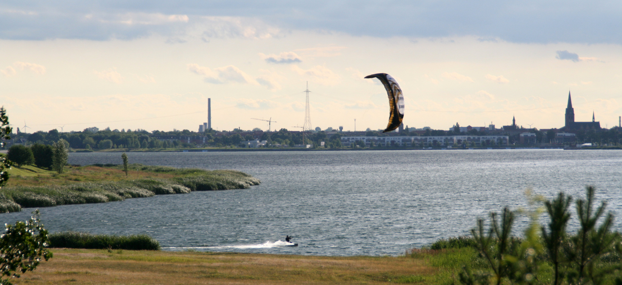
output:
[[[39,210],[26,222],[6,224],[6,232],[0,236],[0,284],[11,285],[12,278],[33,271],[41,259],[52,258],[47,250],[47,230],[39,220]],[[6,276],[6,277],[5,277]]]

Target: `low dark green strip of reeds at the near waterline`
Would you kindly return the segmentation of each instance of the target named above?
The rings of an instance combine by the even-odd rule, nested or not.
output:
[[[93,235],[61,231],[48,236],[51,248],[86,248],[105,250],[160,250],[160,243],[148,235]]]

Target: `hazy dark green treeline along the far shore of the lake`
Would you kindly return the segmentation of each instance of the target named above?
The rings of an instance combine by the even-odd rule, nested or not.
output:
[[[412,128],[411,128],[412,129]],[[536,140],[539,143],[550,142],[555,138],[556,132],[529,130],[536,133]],[[597,142],[599,144],[620,144],[622,139],[622,128],[613,127],[611,129],[601,129],[600,131],[577,131],[577,142]],[[489,134],[486,131],[477,131],[471,129],[468,132],[457,131],[444,131],[442,129],[426,129],[425,131],[402,131],[400,133],[391,133],[391,135],[399,136],[453,136],[453,135],[471,135],[471,136],[483,136]],[[497,133],[499,134],[499,133]],[[503,133],[501,133],[503,134]],[[58,139],[65,139],[69,142],[69,146],[73,149],[110,149],[110,148],[124,148],[124,149],[167,149],[167,148],[182,148],[182,147],[195,147],[195,146],[238,146],[240,142],[252,141],[254,139],[260,139],[261,141],[267,141],[268,144],[287,145],[294,146],[296,144],[313,144],[314,146],[320,146],[320,142],[325,142],[325,147],[341,147],[341,136],[347,136],[348,133],[337,133],[327,135],[325,131],[305,132],[304,141],[303,134],[300,131],[288,131],[287,129],[280,129],[276,132],[261,132],[261,131],[241,131],[234,129],[234,131],[215,131],[210,130],[207,133],[197,133],[184,129],[183,131],[152,131],[151,133],[144,129],[136,129],[132,131],[128,129],[111,130],[109,128],[100,130],[98,128],[86,128],[83,131],[72,131],[70,133],[60,133],[57,129],[50,131],[37,131],[32,134],[18,134],[13,138],[27,139],[29,143],[40,144],[53,144]],[[505,134],[509,135],[509,134]],[[387,133],[381,133],[380,131],[368,131],[365,132],[365,136],[389,136]],[[518,142],[518,134],[509,136],[509,142]]]

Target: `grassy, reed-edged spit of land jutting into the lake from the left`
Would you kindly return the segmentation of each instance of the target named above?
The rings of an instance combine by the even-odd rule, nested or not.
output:
[[[191,191],[248,189],[259,180],[239,171],[205,171],[165,166],[130,164],[126,176],[122,166],[67,167],[63,174],[33,166],[12,167],[9,183],[0,189],[0,212],[22,207],[105,203],[159,194]]]

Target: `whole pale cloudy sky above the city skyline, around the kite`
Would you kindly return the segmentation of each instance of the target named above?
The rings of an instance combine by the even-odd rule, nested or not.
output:
[[[622,115],[620,1],[2,1],[0,104],[27,132],[404,124],[603,128]]]

